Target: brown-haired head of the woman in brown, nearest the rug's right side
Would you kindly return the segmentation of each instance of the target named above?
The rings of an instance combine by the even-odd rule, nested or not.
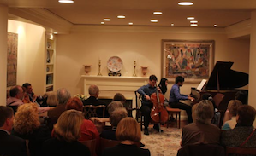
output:
[[[198,106],[195,108],[196,121],[203,124],[211,124],[211,118],[213,118],[213,115],[214,112],[211,101],[199,101]]]

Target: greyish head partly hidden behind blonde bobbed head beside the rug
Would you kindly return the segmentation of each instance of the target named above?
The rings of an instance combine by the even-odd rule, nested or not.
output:
[[[128,113],[124,107],[116,108],[116,110],[110,114],[110,124],[112,126],[117,126],[122,118],[126,117],[128,117]]]

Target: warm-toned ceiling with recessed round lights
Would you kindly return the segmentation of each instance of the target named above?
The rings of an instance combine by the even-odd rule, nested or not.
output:
[[[134,26],[189,26],[188,16],[198,20],[199,27],[226,27],[250,19],[256,9],[256,0],[193,0],[193,6],[178,6],[179,0],[74,0],[72,4],[57,0],[0,0],[9,8],[46,9],[74,25],[100,25],[104,18],[111,21],[105,25]],[[162,11],[162,15],[152,14]],[[117,19],[125,15],[125,19]],[[150,20],[158,20],[151,23]],[[29,20],[29,19],[27,19]]]

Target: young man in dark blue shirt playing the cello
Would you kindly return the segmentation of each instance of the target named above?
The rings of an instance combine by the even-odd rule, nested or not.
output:
[[[148,124],[151,119],[151,109],[153,107],[152,101],[150,99],[150,96],[152,93],[155,93],[156,90],[161,92],[159,88],[156,87],[156,83],[158,81],[158,78],[155,75],[151,75],[148,80],[148,84],[140,87],[140,89],[137,90],[137,92],[142,96],[142,106],[140,107],[140,111],[144,115],[144,134],[149,135],[148,133]],[[158,124],[154,124],[153,128],[157,131],[159,131]],[[163,131],[163,130],[161,130]]]

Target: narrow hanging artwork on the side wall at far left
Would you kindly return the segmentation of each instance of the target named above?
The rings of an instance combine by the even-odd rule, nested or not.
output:
[[[7,44],[7,87],[10,87],[17,81],[18,34],[8,32]]]

